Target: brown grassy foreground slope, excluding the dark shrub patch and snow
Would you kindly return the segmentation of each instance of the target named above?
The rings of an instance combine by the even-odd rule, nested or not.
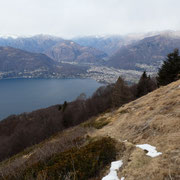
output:
[[[89,124],[86,122],[66,130],[11,160],[2,162],[0,173],[12,173],[16,168],[26,169],[52,154],[76,146],[76,143],[69,143],[74,142],[73,139],[83,137],[83,142],[79,145],[83,146],[90,143],[87,137],[96,139],[99,136],[110,136],[120,144],[127,140],[123,142],[123,153],[122,146],[119,146],[117,155],[117,159],[122,158],[124,162],[118,172],[119,177],[124,176],[126,180],[180,179],[179,85],[180,81],[177,81],[161,87],[116,111],[89,120]],[[163,154],[156,158],[146,156],[143,150],[135,147],[136,144],[144,143],[156,146]]]

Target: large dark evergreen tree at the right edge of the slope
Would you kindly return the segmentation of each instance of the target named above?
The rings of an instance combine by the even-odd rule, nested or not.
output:
[[[180,56],[178,49],[167,55],[162,67],[158,71],[157,83],[158,86],[167,85],[179,79],[180,75]]]

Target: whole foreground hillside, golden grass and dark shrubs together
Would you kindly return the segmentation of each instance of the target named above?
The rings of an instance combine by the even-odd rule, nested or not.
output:
[[[119,179],[178,180],[180,178],[179,109],[180,80],[161,87],[115,111],[91,118],[79,126],[65,130],[40,145],[2,162],[0,164],[1,179],[9,175],[7,179],[39,180],[46,178],[55,180],[58,168],[59,172],[62,172],[62,168],[66,165],[70,169],[69,171],[66,169],[63,173],[69,172],[69,175],[65,173],[66,178],[69,176],[69,179],[72,179],[70,177],[73,176],[73,172],[75,176],[76,173],[81,173],[81,169],[80,172],[76,170],[83,165],[84,173],[87,169],[88,173],[90,173],[89,169],[92,173],[94,172],[97,166],[93,154],[98,152],[101,154],[99,157],[102,158],[100,161],[103,163],[103,169],[102,166],[99,166],[98,171],[95,168],[96,178],[93,179],[101,179],[109,173],[108,164],[110,165],[110,162],[115,160],[116,151],[116,160],[121,160],[122,164],[120,170],[117,171]],[[100,137],[103,138],[103,145]],[[106,137],[111,137],[112,140]],[[152,157],[148,156],[146,155],[147,150],[139,148],[140,144],[141,146],[142,144],[152,145],[159,153],[155,153],[156,155]],[[75,149],[70,150],[72,147]],[[76,148],[82,154],[78,154]],[[91,151],[94,153],[91,154]],[[71,158],[68,160],[68,153],[74,161]],[[86,155],[83,156],[83,153]],[[67,161],[62,163],[61,156]],[[86,164],[86,160],[83,159],[85,157],[87,160],[91,157],[88,160],[89,164]],[[72,166],[71,160],[76,166]],[[100,163],[99,160],[98,163]],[[71,170],[73,167],[74,170]],[[97,173],[99,171],[100,173]],[[85,177],[85,175],[81,174],[80,177]],[[86,176],[85,179],[89,179],[87,177],[92,177],[92,174]]]

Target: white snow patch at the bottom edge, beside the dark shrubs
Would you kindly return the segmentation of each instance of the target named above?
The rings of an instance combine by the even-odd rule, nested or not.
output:
[[[119,180],[119,178],[117,176],[117,171],[119,170],[119,168],[122,165],[123,165],[122,160],[112,162],[109,174],[107,176],[103,177],[102,180]],[[122,179],[122,180],[124,180],[124,179]]]

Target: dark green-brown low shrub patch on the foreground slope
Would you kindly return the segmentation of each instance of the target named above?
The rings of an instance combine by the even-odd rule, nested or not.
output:
[[[98,177],[100,171],[115,160],[115,145],[113,139],[101,138],[86,146],[56,154],[45,162],[38,162],[20,177],[8,177],[7,180],[87,180]]]

